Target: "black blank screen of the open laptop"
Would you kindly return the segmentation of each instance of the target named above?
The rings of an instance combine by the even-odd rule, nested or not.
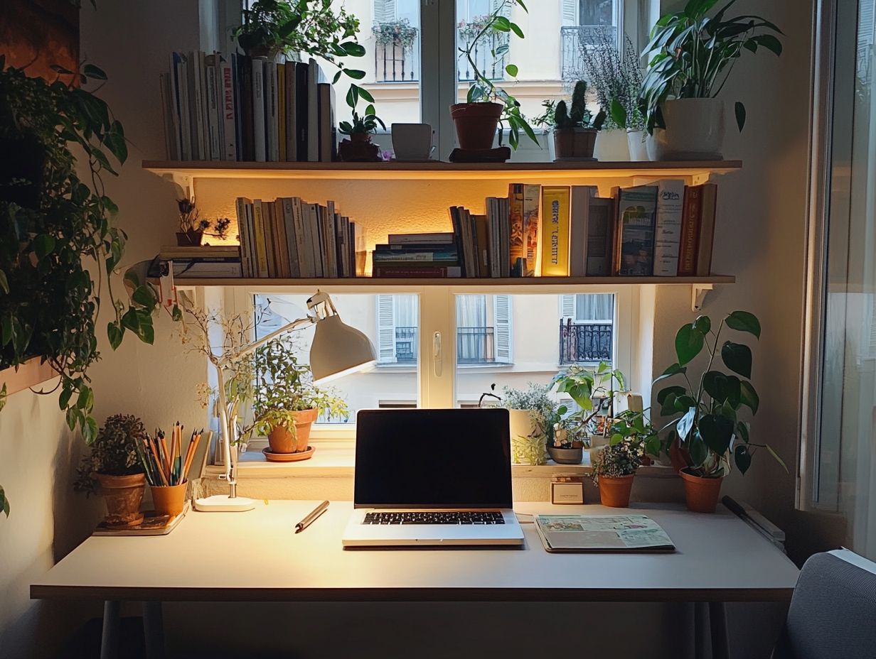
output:
[[[508,410],[360,410],[357,508],[511,508]]]

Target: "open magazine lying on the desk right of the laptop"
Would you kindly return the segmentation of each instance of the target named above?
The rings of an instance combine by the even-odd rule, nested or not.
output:
[[[545,549],[554,551],[675,551],[660,524],[646,515],[535,515]]]

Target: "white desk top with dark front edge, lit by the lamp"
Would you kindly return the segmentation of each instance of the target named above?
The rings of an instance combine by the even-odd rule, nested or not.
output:
[[[315,501],[259,501],[246,513],[191,511],[167,536],[89,537],[31,586],[34,599],[208,601],[777,601],[797,568],[735,515],[668,505],[632,509],[518,503],[526,514],[650,515],[672,554],[549,554],[526,547],[343,550],[350,501],[300,534]]]

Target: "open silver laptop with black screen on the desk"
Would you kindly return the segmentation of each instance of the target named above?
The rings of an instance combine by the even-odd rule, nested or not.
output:
[[[343,546],[522,545],[508,410],[360,410]]]

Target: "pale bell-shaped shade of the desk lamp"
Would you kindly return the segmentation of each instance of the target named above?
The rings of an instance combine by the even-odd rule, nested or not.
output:
[[[328,316],[316,323],[310,344],[314,382],[352,373],[375,361],[371,340],[355,327],[344,324],[340,316]]]

